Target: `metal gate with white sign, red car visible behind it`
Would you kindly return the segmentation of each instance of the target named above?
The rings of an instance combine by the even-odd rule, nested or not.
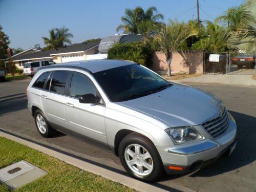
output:
[[[212,61],[210,55],[215,54],[218,60]],[[204,73],[221,73],[236,75],[255,75],[256,56],[239,52],[204,53]]]

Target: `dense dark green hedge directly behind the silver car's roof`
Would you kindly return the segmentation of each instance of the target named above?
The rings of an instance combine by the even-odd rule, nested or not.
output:
[[[115,44],[108,51],[108,59],[124,59],[137,62],[143,66],[151,66],[153,56],[152,46],[149,42],[131,42]]]

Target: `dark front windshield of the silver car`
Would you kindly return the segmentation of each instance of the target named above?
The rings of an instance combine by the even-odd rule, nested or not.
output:
[[[94,73],[111,101],[125,101],[149,95],[171,86],[168,81],[139,65],[129,65]]]

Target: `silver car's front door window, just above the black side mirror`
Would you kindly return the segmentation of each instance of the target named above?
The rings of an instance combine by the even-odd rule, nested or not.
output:
[[[79,98],[82,95],[93,94],[97,96],[97,90],[91,79],[79,73],[73,73],[70,84],[70,96]]]

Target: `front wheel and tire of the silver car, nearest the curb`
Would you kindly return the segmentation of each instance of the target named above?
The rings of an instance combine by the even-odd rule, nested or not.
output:
[[[161,157],[156,146],[147,137],[137,133],[127,135],[120,142],[118,154],[126,172],[133,177],[150,182],[161,178],[163,174]]]

